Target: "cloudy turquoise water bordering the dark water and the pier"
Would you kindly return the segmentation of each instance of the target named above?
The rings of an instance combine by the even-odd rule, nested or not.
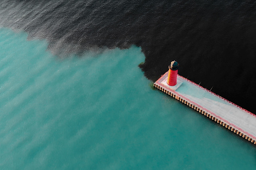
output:
[[[138,47],[59,59],[0,29],[1,169],[255,169],[256,147],[150,87]]]

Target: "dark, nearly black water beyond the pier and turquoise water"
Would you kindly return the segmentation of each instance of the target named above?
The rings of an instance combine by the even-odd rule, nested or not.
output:
[[[47,39],[59,57],[141,47],[155,81],[179,74],[256,113],[254,1],[1,1],[0,25]]]

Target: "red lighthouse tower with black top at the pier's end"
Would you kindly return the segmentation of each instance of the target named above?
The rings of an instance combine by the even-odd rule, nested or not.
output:
[[[169,65],[169,73],[167,78],[167,84],[169,86],[175,86],[177,84],[179,64],[177,61],[172,61]]]

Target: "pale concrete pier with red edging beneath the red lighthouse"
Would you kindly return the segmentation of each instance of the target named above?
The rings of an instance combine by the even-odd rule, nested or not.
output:
[[[167,76],[168,72],[154,83],[154,87],[256,144],[256,115],[180,75],[177,85],[169,86]]]

